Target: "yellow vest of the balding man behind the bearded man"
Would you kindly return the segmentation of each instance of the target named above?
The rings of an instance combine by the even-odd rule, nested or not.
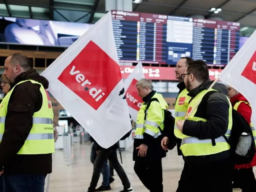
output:
[[[188,108],[188,102],[191,99],[190,96],[188,96],[188,90],[184,89],[180,92],[178,95],[176,102],[175,102],[175,125],[174,125],[174,135],[177,138],[184,138],[185,135],[178,130],[178,127],[176,126],[176,121],[178,120],[184,120],[186,110]]]

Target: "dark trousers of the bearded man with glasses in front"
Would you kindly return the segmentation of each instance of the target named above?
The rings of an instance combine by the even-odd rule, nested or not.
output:
[[[189,163],[190,191],[232,192],[234,165],[230,158]]]

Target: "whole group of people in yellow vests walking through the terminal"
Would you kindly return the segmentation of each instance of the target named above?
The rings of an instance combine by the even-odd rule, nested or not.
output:
[[[202,60],[182,57],[175,72],[180,91],[175,102],[174,134],[178,138],[178,155],[184,159],[177,192],[231,192],[232,187],[255,192],[252,167],[256,165],[256,156],[250,163],[234,165],[230,145],[224,138],[229,137],[232,128],[232,109],[245,118],[256,136],[250,104],[237,90],[222,83],[209,89],[212,81]],[[29,58],[17,53],[5,60],[1,87],[5,97],[0,103],[0,190],[43,192],[45,177],[52,172],[54,152],[53,110],[45,90],[48,80],[33,69]],[[162,158],[169,142],[163,134],[167,103],[148,79],[139,80],[136,88],[143,103],[136,120],[134,170],[150,192],[163,192]],[[214,93],[206,98],[209,91]],[[109,174],[96,189],[100,173],[109,172],[107,159],[122,181],[121,192],[133,192],[118,162],[117,146],[116,143],[105,149],[94,143],[94,169],[88,192],[111,189],[109,184],[114,178]]]

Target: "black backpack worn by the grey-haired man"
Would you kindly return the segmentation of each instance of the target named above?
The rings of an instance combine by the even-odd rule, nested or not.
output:
[[[151,103],[152,101],[157,101],[157,102],[159,102],[157,98],[152,98],[152,99],[150,99],[150,100],[148,101],[147,106],[146,106],[146,109],[145,109],[145,111],[144,111],[144,113],[145,113],[144,120],[146,120],[146,118],[147,118],[147,110],[148,110],[148,108],[149,108],[149,106],[150,106],[150,103]],[[166,110],[166,109],[163,109],[163,111],[164,111],[164,120],[163,120],[163,125],[164,125],[164,127],[163,127],[163,130],[162,130],[162,129],[158,126],[158,129],[159,129],[159,131],[162,133],[162,137],[164,137],[164,136],[167,136],[167,137],[168,137],[169,143],[168,143],[168,145],[167,145],[167,148],[168,148],[169,150],[171,150],[171,149],[173,149],[173,148],[176,146],[176,144],[177,144],[177,138],[176,138],[176,136],[174,135],[175,118],[172,116],[172,113],[171,113],[170,111],[168,111],[168,110]]]

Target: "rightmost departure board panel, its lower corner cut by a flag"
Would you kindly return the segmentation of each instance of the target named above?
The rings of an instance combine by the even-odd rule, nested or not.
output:
[[[217,44],[214,54],[214,65],[226,65],[238,52],[240,38],[240,23],[218,21]]]

